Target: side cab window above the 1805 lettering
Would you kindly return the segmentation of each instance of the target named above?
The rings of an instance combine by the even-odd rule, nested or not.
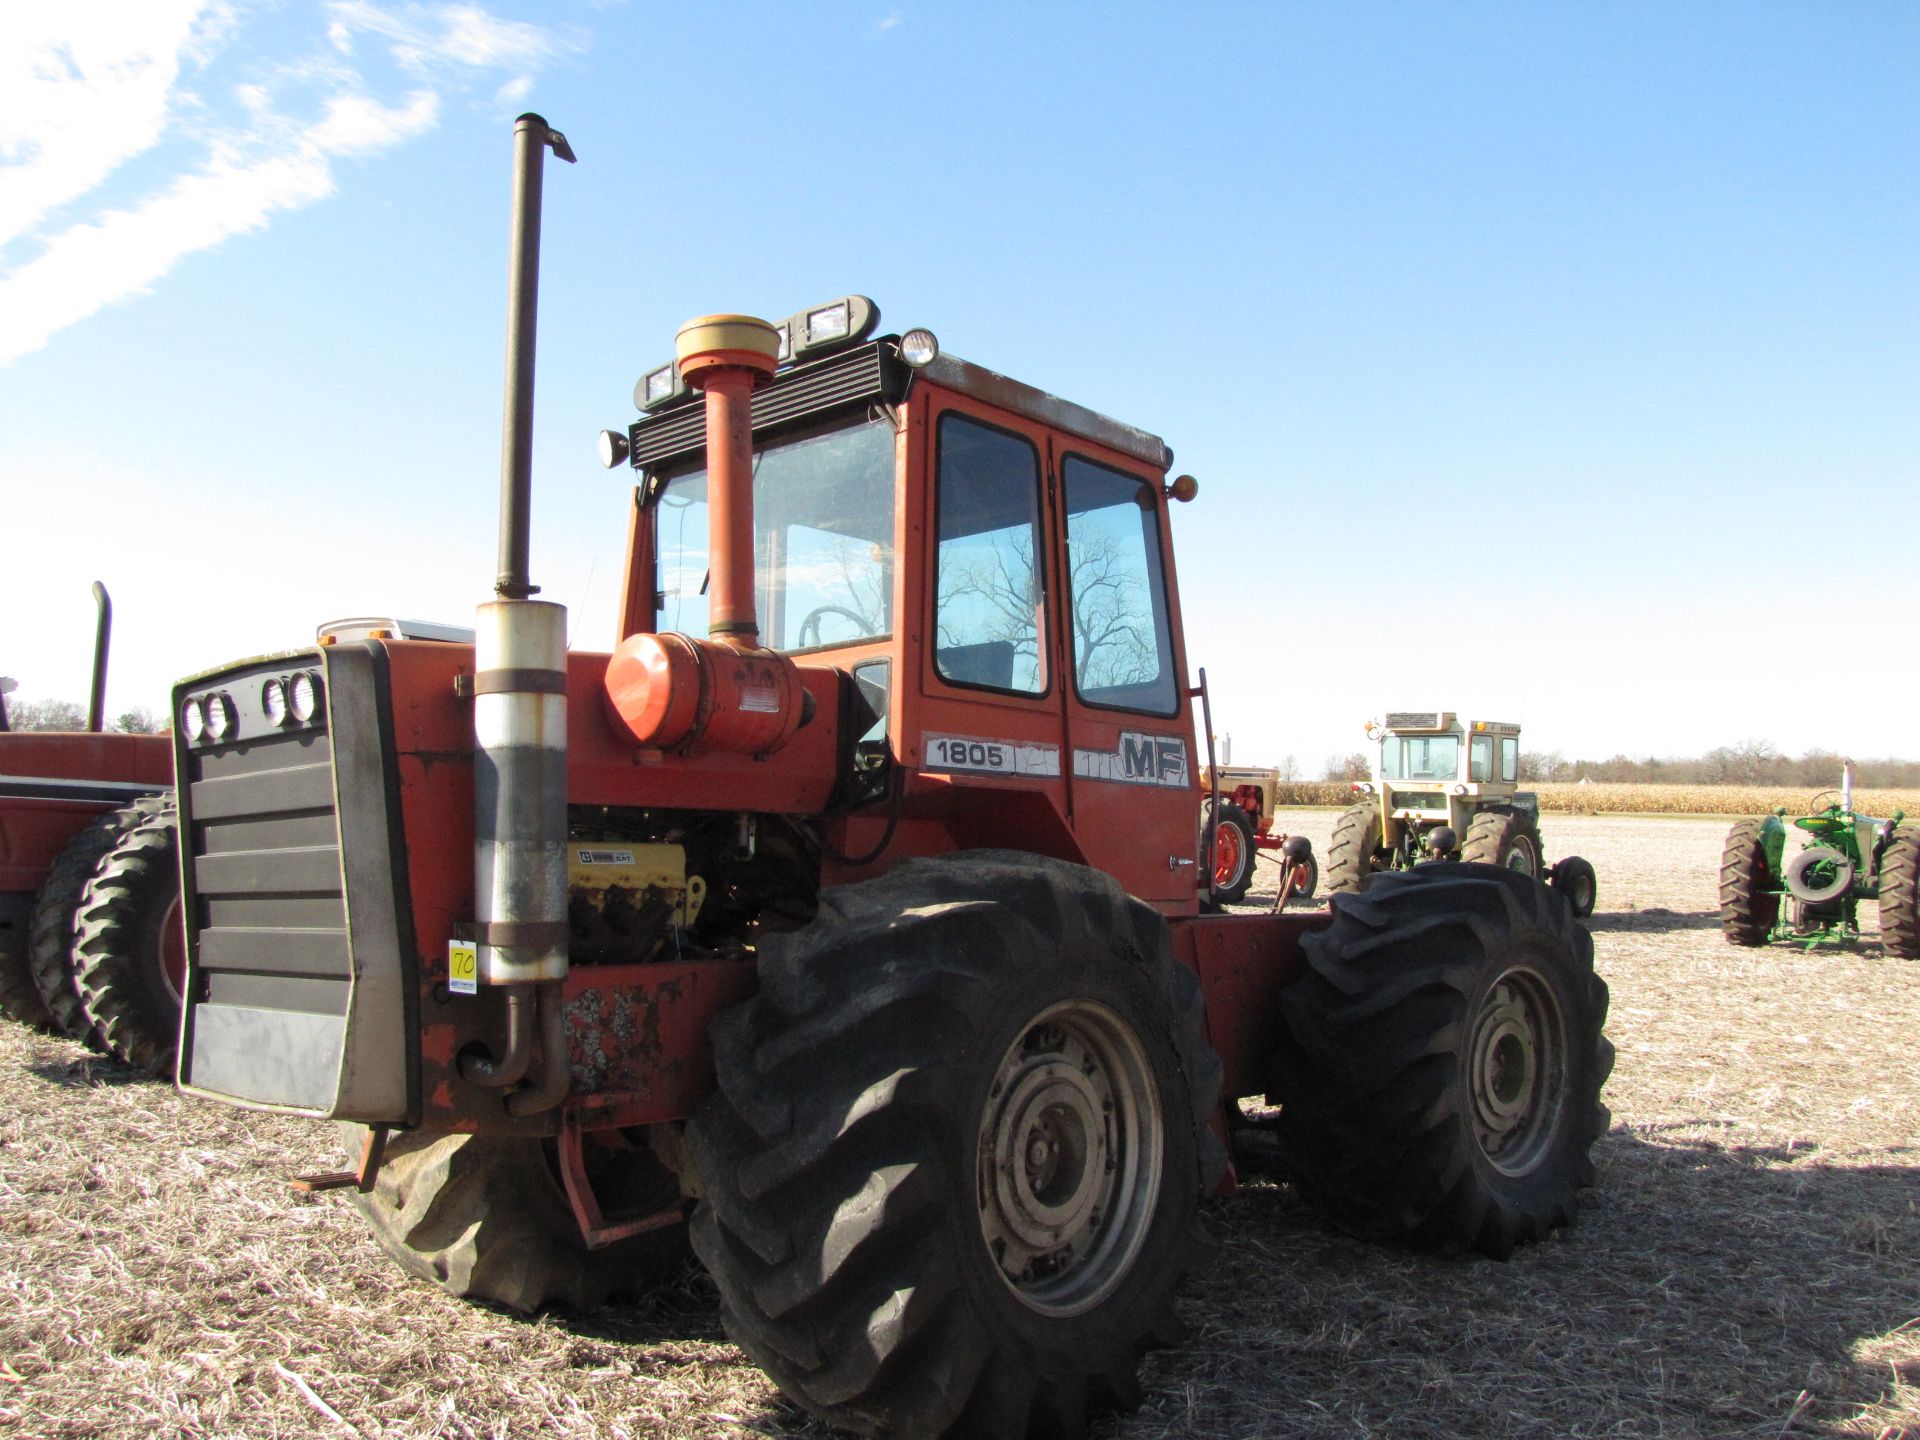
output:
[[[954,413],[941,417],[937,445],[933,668],[954,685],[1039,695],[1039,451]]]

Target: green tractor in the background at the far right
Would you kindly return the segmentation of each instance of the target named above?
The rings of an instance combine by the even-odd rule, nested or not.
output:
[[[1793,820],[1807,843],[1791,856],[1786,806],[1726,831],[1720,929],[1728,943],[1843,945],[1860,935],[1860,900],[1878,900],[1887,954],[1920,960],[1920,829],[1901,828],[1905,810],[1891,820],[1855,810],[1851,764],[1839,789],[1820,791],[1809,808]]]

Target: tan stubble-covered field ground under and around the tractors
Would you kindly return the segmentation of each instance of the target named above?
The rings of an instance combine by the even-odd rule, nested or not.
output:
[[[1332,812],[1283,824],[1325,851]],[[1920,966],[1720,939],[1722,822],[1548,816],[1599,872],[1613,1131],[1509,1263],[1340,1236],[1258,1142],[1188,1340],[1106,1440],[1920,1436]],[[1870,906],[1868,906],[1870,910]],[[536,1321],[409,1281],[324,1127],[0,1025],[0,1434],[826,1436],[689,1273]]]

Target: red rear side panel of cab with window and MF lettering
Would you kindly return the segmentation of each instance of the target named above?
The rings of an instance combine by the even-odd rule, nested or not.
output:
[[[1160,476],[1056,436],[1052,480],[1073,831],[1131,895],[1190,912],[1198,766]]]

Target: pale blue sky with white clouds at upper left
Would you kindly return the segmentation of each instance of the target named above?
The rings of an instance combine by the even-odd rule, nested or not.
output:
[[[48,13],[40,13],[40,12]],[[889,328],[1167,438],[1236,762],[1920,755],[1920,8],[248,4],[0,29],[0,672],[109,707],[493,576],[511,125],[534,578],[689,315]]]

